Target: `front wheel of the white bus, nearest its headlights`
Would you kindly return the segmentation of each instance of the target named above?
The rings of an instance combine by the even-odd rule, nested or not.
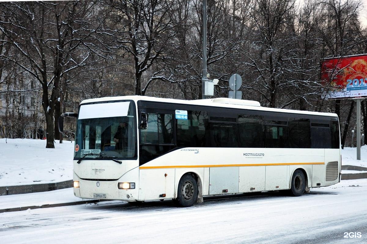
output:
[[[178,182],[177,203],[181,207],[190,207],[197,200],[196,179],[191,174],[184,174]]]

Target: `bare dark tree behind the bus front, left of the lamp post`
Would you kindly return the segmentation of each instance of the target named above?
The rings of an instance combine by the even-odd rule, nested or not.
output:
[[[154,80],[166,80],[159,61],[169,59],[174,32],[172,12],[176,0],[110,1],[111,20],[118,31],[118,55],[130,57],[135,94],[145,95]],[[148,75],[150,71],[150,75]]]

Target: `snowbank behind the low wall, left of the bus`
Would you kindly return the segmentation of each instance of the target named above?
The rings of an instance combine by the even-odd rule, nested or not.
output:
[[[0,139],[0,186],[55,183],[73,179],[74,142]]]

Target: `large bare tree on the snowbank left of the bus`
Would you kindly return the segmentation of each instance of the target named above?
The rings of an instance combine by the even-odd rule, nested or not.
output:
[[[61,79],[83,67],[97,52],[98,25],[88,22],[95,14],[91,1],[1,3],[0,41],[10,44],[14,55],[2,58],[29,73],[42,89],[47,148],[54,148],[54,113],[60,113]],[[56,131],[58,134],[58,131]]]

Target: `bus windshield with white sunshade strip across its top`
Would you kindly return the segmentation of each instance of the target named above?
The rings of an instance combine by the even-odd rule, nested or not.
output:
[[[136,133],[133,102],[81,105],[74,159],[137,159]]]

